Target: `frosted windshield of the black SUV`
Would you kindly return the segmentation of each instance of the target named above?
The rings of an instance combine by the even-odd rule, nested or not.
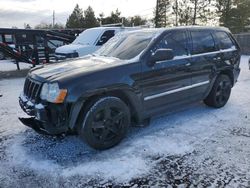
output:
[[[120,33],[110,39],[96,54],[128,60],[139,55],[156,36],[157,31]]]

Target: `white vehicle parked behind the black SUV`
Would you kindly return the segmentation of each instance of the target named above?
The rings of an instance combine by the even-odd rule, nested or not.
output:
[[[95,27],[86,29],[73,41],[73,43],[58,47],[55,52],[55,57],[57,60],[63,60],[91,54],[98,50],[118,32],[132,29],[135,28]]]

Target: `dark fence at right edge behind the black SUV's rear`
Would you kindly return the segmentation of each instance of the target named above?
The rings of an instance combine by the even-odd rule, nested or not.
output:
[[[250,33],[234,34],[244,55],[250,55]]]

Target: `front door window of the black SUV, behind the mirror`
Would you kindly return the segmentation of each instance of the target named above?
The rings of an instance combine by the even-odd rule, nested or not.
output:
[[[175,57],[188,55],[186,33],[180,31],[166,34],[166,36],[156,44],[152,52],[154,53],[158,49],[172,49]]]

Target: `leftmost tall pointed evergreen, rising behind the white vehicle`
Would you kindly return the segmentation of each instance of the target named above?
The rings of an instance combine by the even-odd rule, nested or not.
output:
[[[66,27],[67,28],[82,28],[83,22],[84,22],[83,11],[79,7],[79,5],[76,4],[72,14],[67,19]]]

